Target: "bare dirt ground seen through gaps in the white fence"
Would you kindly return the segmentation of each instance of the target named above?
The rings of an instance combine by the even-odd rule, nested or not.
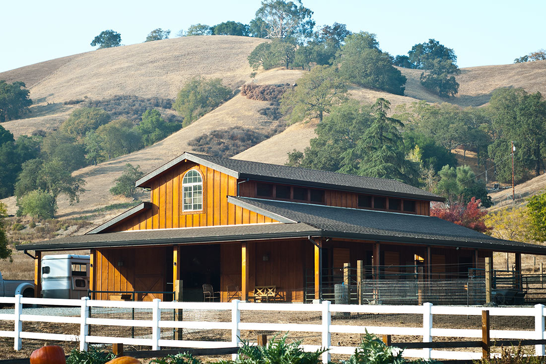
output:
[[[219,315],[219,321],[229,321],[230,313],[222,312]],[[419,342],[422,336],[419,335],[419,328],[423,325],[422,315],[410,314],[352,314],[347,317],[332,316],[334,325],[359,325],[359,326],[399,326],[399,327],[417,327],[415,336],[398,335],[393,336],[393,345],[396,342]],[[320,324],[321,315],[316,312],[241,312],[241,322],[276,322],[292,324]],[[13,323],[9,321],[0,322],[0,330],[13,330]],[[481,328],[481,319],[479,316],[446,316],[435,315],[434,327],[442,328]],[[534,322],[531,317],[515,316],[491,316],[491,330],[533,330]],[[51,332],[63,334],[79,334],[79,326],[75,324],[50,324],[39,322],[23,322],[23,331]],[[267,334],[270,339],[275,334],[282,336],[284,332],[270,331],[241,331],[241,339],[255,342],[258,334]],[[183,333],[185,340],[223,340],[229,341],[231,333],[229,330],[207,330]],[[320,333],[293,332],[288,333],[288,341],[301,340],[303,344],[321,344]],[[360,334],[333,333],[332,344],[339,346],[357,346],[360,342]],[[434,341],[461,341],[473,340],[471,338],[442,338],[435,337]],[[23,339],[22,350],[13,350],[13,338],[0,338],[0,358],[15,359],[29,357],[33,350],[42,345],[61,345],[68,354],[73,348],[78,348],[78,342],[54,342],[44,340]],[[110,350],[109,345],[104,345],[105,350]],[[149,350],[150,347],[132,347],[126,345],[124,351]],[[169,348],[163,348],[169,349]],[[175,349],[175,348],[172,348]],[[449,349],[446,349],[449,350]],[[452,349],[465,351],[478,351],[477,349]],[[493,349],[492,351],[499,351]],[[341,355],[333,355],[333,359],[341,359]],[[229,356],[207,357],[206,361],[214,359],[229,359]],[[205,359],[204,357],[201,359]]]

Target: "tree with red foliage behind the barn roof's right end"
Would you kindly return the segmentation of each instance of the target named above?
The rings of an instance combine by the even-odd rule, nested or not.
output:
[[[451,221],[457,225],[484,233],[491,230],[491,228],[485,226],[484,218],[487,213],[480,210],[479,206],[481,202],[480,199],[472,197],[466,206],[459,203],[454,203],[447,208],[433,206],[430,210],[430,216]]]

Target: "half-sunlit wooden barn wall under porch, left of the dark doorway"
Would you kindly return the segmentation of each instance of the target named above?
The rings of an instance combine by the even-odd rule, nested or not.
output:
[[[97,249],[93,267],[96,291],[164,291],[165,254],[163,246],[153,248]],[[122,261],[123,265],[118,266]],[[97,293],[97,300],[109,300],[119,293]],[[163,298],[162,295],[139,295],[139,301]]]

